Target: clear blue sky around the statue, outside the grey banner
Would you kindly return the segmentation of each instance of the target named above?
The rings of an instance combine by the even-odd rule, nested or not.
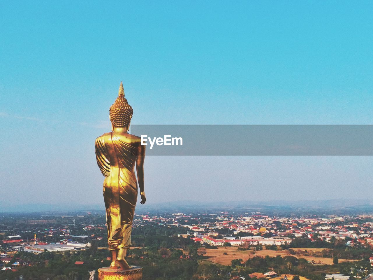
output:
[[[93,141],[110,130],[122,80],[134,124],[372,124],[372,10],[371,1],[2,1],[0,186],[21,201],[101,203]],[[222,166],[227,175],[216,175]],[[273,189],[340,198],[372,187],[369,166],[370,157],[154,157],[145,180],[149,202],[235,199],[234,190],[266,200]]]

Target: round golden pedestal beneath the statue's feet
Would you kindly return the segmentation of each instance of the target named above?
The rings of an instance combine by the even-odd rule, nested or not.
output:
[[[142,280],[142,267],[131,265],[128,270],[102,267],[98,269],[98,280]]]

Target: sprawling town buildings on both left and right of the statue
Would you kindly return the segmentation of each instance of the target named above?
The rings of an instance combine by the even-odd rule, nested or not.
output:
[[[75,218],[72,220],[72,218],[66,217],[69,218],[70,224],[57,228],[53,226],[38,228],[38,224],[46,224],[49,220],[33,220],[30,226],[33,230],[37,228],[33,239],[22,237],[22,231],[13,231],[16,234],[6,236],[0,240],[0,243],[3,243],[3,247],[6,245],[9,251],[24,250],[39,253],[45,250],[81,250],[90,246],[89,240],[103,238],[94,233],[106,230],[105,224],[92,224],[93,221],[100,220],[92,217],[76,216],[77,219],[84,218],[81,220],[90,223],[79,225],[86,235],[72,235],[72,233],[76,233]],[[373,217],[359,215],[270,217],[259,212],[243,214],[229,214],[228,212],[216,214],[164,213],[135,215],[133,226],[158,224],[165,227],[178,227],[179,232],[184,231],[179,236],[191,237],[195,242],[213,246],[283,245],[292,242],[294,238],[303,237],[311,242],[343,240],[346,246],[361,245],[373,249],[373,222],[369,222],[367,218]],[[6,257],[0,255],[0,258]]]

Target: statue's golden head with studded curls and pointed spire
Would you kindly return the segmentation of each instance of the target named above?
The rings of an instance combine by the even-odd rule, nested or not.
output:
[[[134,110],[124,97],[123,83],[120,82],[118,97],[110,106],[109,115],[113,127],[128,127]]]

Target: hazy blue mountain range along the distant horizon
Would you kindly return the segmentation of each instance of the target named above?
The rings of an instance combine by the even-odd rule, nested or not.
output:
[[[46,203],[16,203],[9,205],[0,203],[0,212],[48,212],[48,211],[103,211],[102,204],[46,204]],[[137,213],[145,212],[225,212],[263,214],[372,214],[373,200],[369,199],[328,199],[328,200],[269,200],[269,201],[174,201],[162,203],[147,203],[138,205]]]

